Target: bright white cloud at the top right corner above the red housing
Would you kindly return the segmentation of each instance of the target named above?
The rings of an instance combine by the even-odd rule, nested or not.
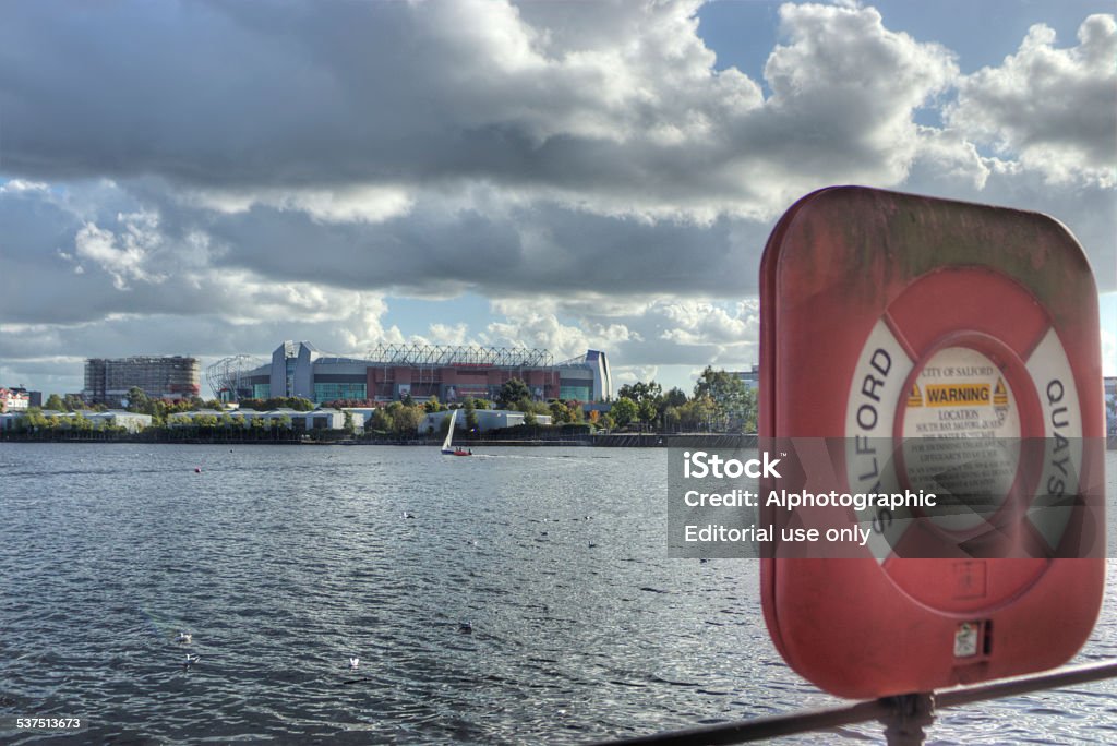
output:
[[[1078,46],[1056,47],[1033,26],[1015,55],[958,82],[952,126],[999,153],[1016,154],[1051,182],[1117,185],[1117,21],[1087,18]]]

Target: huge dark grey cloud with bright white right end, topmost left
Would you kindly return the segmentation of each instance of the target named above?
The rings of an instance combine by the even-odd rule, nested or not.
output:
[[[871,8],[786,4],[765,101],[757,82],[715,69],[697,8],[20,6],[0,30],[0,64],[21,71],[0,83],[6,168],[157,176],[201,208],[326,222],[381,222],[418,191],[481,182],[707,224],[771,219],[839,174],[903,179],[910,113],[954,73],[944,49]]]

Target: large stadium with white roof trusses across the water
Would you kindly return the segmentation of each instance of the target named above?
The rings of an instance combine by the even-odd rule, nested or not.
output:
[[[546,350],[441,345],[381,345],[365,357],[319,352],[309,342],[284,342],[271,362],[251,370],[227,358],[207,369],[222,399],[302,396],[316,403],[337,400],[399,401],[407,396],[441,402],[494,400],[512,379],[527,384],[533,399],[596,401],[612,395],[603,352],[554,363]]]

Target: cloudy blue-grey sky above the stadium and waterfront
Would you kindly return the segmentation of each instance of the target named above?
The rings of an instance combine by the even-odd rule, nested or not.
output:
[[[0,385],[382,343],[757,361],[782,212],[1048,213],[1117,375],[1117,3],[4,3]],[[209,395],[203,390],[204,395]]]

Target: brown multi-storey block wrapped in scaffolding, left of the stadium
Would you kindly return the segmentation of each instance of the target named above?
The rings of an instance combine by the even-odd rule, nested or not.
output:
[[[90,357],[85,361],[82,398],[87,402],[120,407],[133,386],[139,386],[151,399],[197,396],[201,393],[198,358],[137,355],[117,360]]]

